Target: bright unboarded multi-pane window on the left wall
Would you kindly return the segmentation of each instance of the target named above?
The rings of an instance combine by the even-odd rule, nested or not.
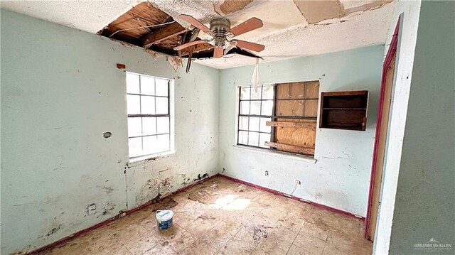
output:
[[[171,151],[170,84],[127,72],[129,158]]]

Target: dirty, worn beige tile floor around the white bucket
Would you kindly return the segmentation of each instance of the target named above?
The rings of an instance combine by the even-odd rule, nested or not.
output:
[[[217,177],[171,197],[173,227],[151,205],[41,254],[371,254],[360,219]]]

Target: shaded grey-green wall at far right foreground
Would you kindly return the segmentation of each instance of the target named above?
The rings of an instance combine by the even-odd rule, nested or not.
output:
[[[390,254],[432,238],[455,254],[454,26],[455,1],[422,1]]]

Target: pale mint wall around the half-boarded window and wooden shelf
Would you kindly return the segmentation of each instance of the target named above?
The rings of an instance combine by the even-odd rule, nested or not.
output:
[[[220,166],[223,174],[365,217],[384,45],[259,65],[260,83],[319,80],[320,92],[367,89],[366,131],[316,129],[316,161],[235,146],[239,85],[250,85],[253,67],[220,72]],[[265,176],[264,171],[269,175]]]

